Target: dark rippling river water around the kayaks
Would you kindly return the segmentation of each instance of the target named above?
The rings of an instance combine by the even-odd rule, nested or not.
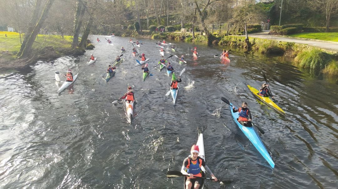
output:
[[[84,56],[1,74],[0,188],[183,188],[183,178],[167,179],[166,172],[180,170],[201,131],[207,165],[218,179],[233,180],[206,181],[205,188],[337,188],[337,84],[278,58],[233,50],[231,62],[222,63],[214,58],[219,46],[175,41],[176,52],[166,50],[165,56],[184,54],[187,64],[168,59],[177,75],[186,68],[173,106],[165,96],[170,77],[153,67],[160,59],[157,41],[142,40],[139,48],[154,75],[143,82],[128,38],[111,38],[113,46],[104,36],[92,41],[96,37],[103,42],[94,42]],[[105,83],[102,75],[121,46],[125,61]],[[91,53],[98,59],[88,66]],[[61,84],[54,72],[67,69],[78,78],[57,94]],[[285,115],[246,87],[259,88],[263,71]],[[128,85],[137,101],[131,125],[124,104],[111,103]],[[222,96],[237,106],[248,103],[253,121],[265,130],[260,136],[274,169],[237,127]]]

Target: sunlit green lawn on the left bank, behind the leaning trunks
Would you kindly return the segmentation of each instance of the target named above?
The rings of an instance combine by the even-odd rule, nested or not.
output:
[[[7,34],[7,37],[5,37]],[[23,41],[24,36],[21,34],[21,41]],[[72,43],[71,36],[64,36],[62,38],[59,35],[38,35],[38,38],[35,39],[33,49],[38,49],[44,46],[53,46],[60,48],[70,48]],[[7,32],[0,31],[0,57],[3,54],[5,56],[13,56],[10,59],[14,59],[17,52],[20,50],[20,35],[17,32]],[[8,53],[6,53],[8,51]]]

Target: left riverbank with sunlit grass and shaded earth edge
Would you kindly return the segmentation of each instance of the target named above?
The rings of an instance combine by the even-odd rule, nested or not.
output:
[[[84,49],[71,49],[71,36],[38,35],[34,41],[31,56],[17,59],[24,36],[17,32],[0,31],[0,70],[25,69],[37,61],[50,61],[62,56],[79,56]],[[9,63],[10,62],[10,63]]]

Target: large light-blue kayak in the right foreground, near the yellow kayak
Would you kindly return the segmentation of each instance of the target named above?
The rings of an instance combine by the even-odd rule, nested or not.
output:
[[[242,124],[240,124],[237,120],[238,112],[233,113],[232,106],[234,106],[234,105],[232,103],[230,103],[230,111],[231,111],[231,114],[232,114],[237,126],[242,130],[242,132],[245,134],[245,136],[248,137],[248,139],[251,141],[251,143],[256,147],[258,152],[264,157],[264,159],[273,168],[274,162],[273,162],[269,152],[266,150],[266,148],[265,148],[261,138],[257,134],[256,130],[254,129],[254,127],[245,127]]]

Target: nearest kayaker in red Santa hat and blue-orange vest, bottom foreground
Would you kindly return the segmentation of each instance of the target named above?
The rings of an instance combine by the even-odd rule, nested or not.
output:
[[[206,170],[206,172],[217,181],[215,175],[211,172],[209,167],[206,165],[206,162],[198,156],[199,148],[197,145],[193,145],[190,150],[190,155],[184,159],[183,165],[181,168],[181,173],[184,175],[189,175],[186,180],[186,188],[192,188],[192,183],[195,183],[193,186],[194,189],[199,188],[200,185],[204,182],[203,178],[194,178],[195,177],[202,177],[202,170],[201,167]]]

